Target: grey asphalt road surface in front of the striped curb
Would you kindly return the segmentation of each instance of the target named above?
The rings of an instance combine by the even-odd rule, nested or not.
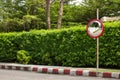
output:
[[[27,71],[1,70],[0,80],[118,80],[113,78],[43,74]]]

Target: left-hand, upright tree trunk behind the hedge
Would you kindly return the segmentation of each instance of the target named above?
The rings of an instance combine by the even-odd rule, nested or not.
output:
[[[46,25],[48,29],[51,29],[50,23],[50,0],[46,0]]]

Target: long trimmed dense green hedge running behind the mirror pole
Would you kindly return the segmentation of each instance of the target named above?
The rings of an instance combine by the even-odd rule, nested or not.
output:
[[[119,36],[120,22],[105,23],[100,67],[120,68]],[[20,50],[30,54],[30,64],[96,66],[96,40],[88,37],[85,27],[0,34],[0,62],[17,62]]]

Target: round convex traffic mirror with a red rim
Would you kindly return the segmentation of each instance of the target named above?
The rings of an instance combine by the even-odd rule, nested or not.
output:
[[[99,20],[90,21],[87,25],[87,33],[93,38],[99,37],[103,33],[103,24]]]

